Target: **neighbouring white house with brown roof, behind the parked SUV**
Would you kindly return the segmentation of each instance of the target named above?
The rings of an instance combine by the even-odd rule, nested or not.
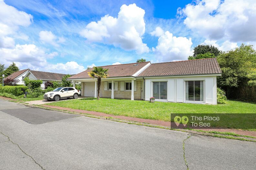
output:
[[[43,83],[41,84],[41,88],[44,88],[44,83],[46,81],[61,81],[62,77],[66,74],[59,74],[59,73],[52,73],[52,72],[44,72],[44,71],[34,71],[29,70],[23,77],[22,81],[28,77],[31,80],[42,80]]]

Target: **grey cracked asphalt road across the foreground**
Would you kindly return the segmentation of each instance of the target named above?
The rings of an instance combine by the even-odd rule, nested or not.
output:
[[[256,143],[189,136],[0,99],[1,170],[255,169]]]

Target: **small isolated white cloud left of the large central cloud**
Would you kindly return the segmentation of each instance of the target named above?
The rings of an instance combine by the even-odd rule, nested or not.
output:
[[[57,40],[57,36],[54,35],[51,31],[40,31],[39,33],[39,39],[43,42],[43,43],[48,43],[51,45],[54,45],[56,47],[59,47],[58,43],[63,43],[65,42],[65,38],[63,37],[59,37]]]

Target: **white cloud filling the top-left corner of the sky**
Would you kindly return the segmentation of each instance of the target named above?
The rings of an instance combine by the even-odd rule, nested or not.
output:
[[[13,48],[14,39],[7,35],[15,34],[19,26],[29,26],[32,19],[32,15],[18,11],[15,7],[0,0],[0,48]]]

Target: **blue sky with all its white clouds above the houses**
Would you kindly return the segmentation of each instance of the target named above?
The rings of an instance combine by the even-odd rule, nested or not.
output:
[[[198,44],[254,45],[255,2],[243,1],[0,0],[0,62],[74,74],[140,58],[186,60]]]

